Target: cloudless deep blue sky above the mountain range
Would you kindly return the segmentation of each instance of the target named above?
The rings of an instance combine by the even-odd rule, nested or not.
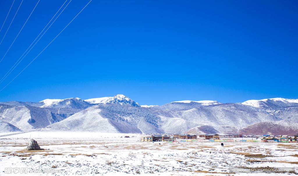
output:
[[[1,26],[12,2],[0,2]],[[0,60],[37,2],[24,0],[21,4],[0,45]],[[0,89],[88,2],[72,0]],[[20,3],[15,0],[0,40]],[[0,63],[0,79],[63,3],[40,0]],[[294,0],[93,0],[0,92],[0,101],[90,99],[115,94],[124,94],[141,105],[181,100],[297,99],[297,19],[298,1]]]

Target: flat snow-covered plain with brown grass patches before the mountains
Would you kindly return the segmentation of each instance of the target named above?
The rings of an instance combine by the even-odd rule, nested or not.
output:
[[[124,138],[126,135],[131,138]],[[30,137],[46,150],[24,150]],[[221,142],[153,143],[139,142],[139,137],[48,130],[2,137],[0,175],[26,175],[8,174],[5,168],[61,170],[61,173],[28,171],[27,175],[295,175],[234,173],[229,172],[229,167],[298,167],[297,143],[226,142],[221,147]]]

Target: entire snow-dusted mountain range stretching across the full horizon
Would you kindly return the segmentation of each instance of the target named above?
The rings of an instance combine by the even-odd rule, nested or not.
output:
[[[292,135],[298,132],[298,99],[274,98],[243,103],[185,100],[162,106],[140,106],[119,94],[87,100],[12,101],[0,102],[0,122],[3,126],[0,131],[46,127],[118,133]]]

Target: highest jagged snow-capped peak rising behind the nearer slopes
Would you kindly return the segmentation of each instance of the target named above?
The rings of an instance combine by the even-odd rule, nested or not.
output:
[[[134,100],[128,98],[128,96],[118,94],[114,95],[113,97],[103,97],[103,98],[92,98],[92,99],[86,99],[86,102],[90,104],[120,104],[120,105],[131,105],[135,107],[140,107],[138,103],[136,103]]]

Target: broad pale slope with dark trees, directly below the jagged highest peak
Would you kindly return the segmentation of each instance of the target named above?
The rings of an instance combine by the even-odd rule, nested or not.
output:
[[[46,129],[105,133],[162,132],[158,129],[158,121],[157,116],[139,107],[105,104],[94,105]]]

